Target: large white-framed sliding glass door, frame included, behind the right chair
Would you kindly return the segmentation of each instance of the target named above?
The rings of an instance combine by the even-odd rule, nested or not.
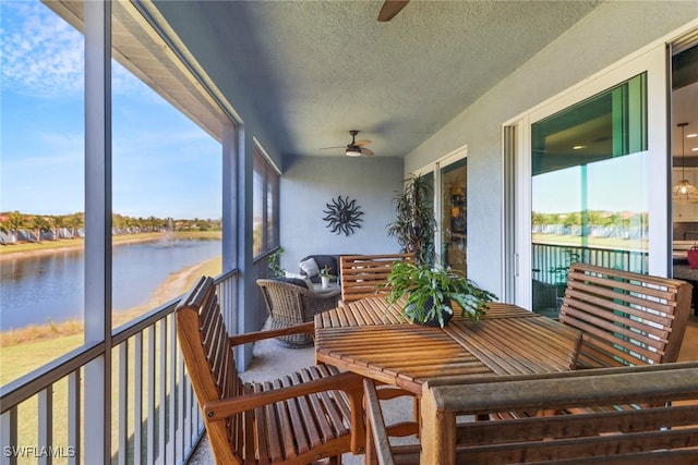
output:
[[[665,74],[658,47],[510,125],[517,304],[556,316],[574,261],[666,276]]]

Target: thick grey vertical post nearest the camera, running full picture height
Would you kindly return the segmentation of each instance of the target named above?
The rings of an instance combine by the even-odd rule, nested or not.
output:
[[[111,2],[85,7],[85,463],[111,462]],[[72,445],[72,444],[71,444]],[[79,445],[79,444],[74,444]]]

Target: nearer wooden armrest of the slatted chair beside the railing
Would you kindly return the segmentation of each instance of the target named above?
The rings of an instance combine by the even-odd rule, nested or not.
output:
[[[359,411],[361,411],[361,396],[363,395],[362,379],[359,375],[346,371],[327,378],[314,379],[300,384],[275,389],[273,391],[209,401],[203,405],[202,409],[204,411],[207,421],[219,421],[241,412],[248,412],[263,405],[296,399],[315,392],[344,391],[350,400],[358,400]]]

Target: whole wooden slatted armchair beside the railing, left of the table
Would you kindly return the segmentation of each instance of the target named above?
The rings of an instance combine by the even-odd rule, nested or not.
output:
[[[177,308],[177,336],[217,464],[308,464],[363,453],[361,377],[316,365],[264,383],[243,383],[234,347],[313,334],[312,322],[228,335],[215,285],[203,277]]]

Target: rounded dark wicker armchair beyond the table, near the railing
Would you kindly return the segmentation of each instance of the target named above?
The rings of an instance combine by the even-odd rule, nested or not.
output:
[[[308,287],[288,282],[258,279],[266,310],[272,319],[272,328],[312,321],[315,315],[335,308],[341,291],[316,293]],[[276,338],[285,347],[306,347],[313,345],[308,334],[292,334]]]

